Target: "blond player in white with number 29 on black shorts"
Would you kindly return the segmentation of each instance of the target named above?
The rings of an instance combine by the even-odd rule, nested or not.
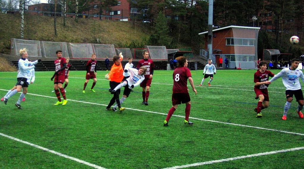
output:
[[[27,93],[27,87],[28,87],[27,80],[30,78],[28,70],[34,69],[35,66],[33,66],[33,65],[36,65],[38,62],[41,62],[41,59],[36,60],[35,62],[29,62],[29,60],[27,59],[27,57],[29,55],[27,54],[27,51],[25,48],[20,49],[19,54],[21,56],[21,59],[19,59],[19,62],[18,62],[19,72],[17,75],[17,88],[15,90],[11,91],[11,93],[9,93],[8,96],[4,97],[3,101],[4,101],[4,104],[7,104],[7,100],[10,97],[14,96],[17,92],[20,92],[21,88],[22,88],[23,91],[20,94],[19,100],[15,104],[19,109],[21,109],[20,102]]]

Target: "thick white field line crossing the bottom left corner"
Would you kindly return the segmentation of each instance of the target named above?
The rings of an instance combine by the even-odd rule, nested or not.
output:
[[[35,147],[35,148],[39,148],[39,149],[41,149],[41,150],[43,150],[43,151],[48,151],[48,152],[53,153],[53,154],[56,154],[56,155],[58,155],[58,156],[61,156],[61,157],[64,157],[64,158],[67,158],[67,159],[70,159],[70,160],[74,160],[74,161],[76,161],[76,162],[78,162],[78,163],[85,164],[85,165],[88,165],[88,166],[90,166],[90,167],[94,167],[94,168],[98,168],[98,169],[105,169],[104,167],[100,167],[100,166],[98,166],[98,165],[91,164],[91,163],[89,163],[89,162],[80,160],[80,159],[78,159],[78,158],[74,158],[74,157],[71,157],[71,156],[68,156],[68,155],[65,155],[65,154],[61,154],[61,153],[59,153],[59,152],[57,152],[57,151],[50,150],[50,149],[47,149],[47,148],[38,146],[38,145],[36,145],[36,144],[32,144],[32,143],[29,143],[29,142],[27,142],[27,141],[23,141],[23,140],[20,140],[20,139],[18,139],[18,138],[15,138],[15,137],[8,136],[8,135],[6,135],[6,134],[0,133],[0,135],[3,136],[3,137],[7,137],[7,138],[9,138],[9,139],[18,141],[18,142],[20,142],[20,143],[27,144],[27,145],[33,146],[33,147]]]

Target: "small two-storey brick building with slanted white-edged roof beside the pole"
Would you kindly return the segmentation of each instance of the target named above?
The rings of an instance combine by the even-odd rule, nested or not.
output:
[[[218,49],[221,54],[213,54],[214,58],[227,57],[229,68],[257,69],[257,36],[259,27],[226,26],[212,30],[212,49]],[[205,50],[208,45],[208,31],[204,35]]]

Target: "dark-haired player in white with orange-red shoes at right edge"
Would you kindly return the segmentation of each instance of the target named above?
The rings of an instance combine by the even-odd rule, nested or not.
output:
[[[282,69],[281,72],[270,79],[270,82],[273,82],[279,77],[282,77],[283,84],[286,87],[286,103],[284,106],[282,120],[286,120],[287,111],[291,105],[293,95],[295,95],[295,99],[299,103],[297,113],[299,114],[300,118],[303,118],[301,110],[303,109],[304,99],[299,78],[301,78],[302,82],[304,82],[304,75],[301,70],[297,69],[299,63],[300,61],[298,59],[292,59],[291,67]]]

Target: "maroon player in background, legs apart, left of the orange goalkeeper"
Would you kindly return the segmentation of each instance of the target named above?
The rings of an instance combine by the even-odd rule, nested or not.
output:
[[[87,86],[88,82],[90,79],[93,79],[94,82],[92,84],[92,87],[91,87],[91,91],[92,92],[95,92],[95,90],[93,90],[96,82],[97,82],[97,79],[96,79],[96,67],[97,67],[97,60],[96,60],[96,55],[95,54],[92,54],[92,59],[88,61],[87,63],[87,75],[85,76],[85,84],[83,86],[83,90],[82,90],[82,93],[85,93],[85,87]],[[95,71],[95,72],[94,72]]]

